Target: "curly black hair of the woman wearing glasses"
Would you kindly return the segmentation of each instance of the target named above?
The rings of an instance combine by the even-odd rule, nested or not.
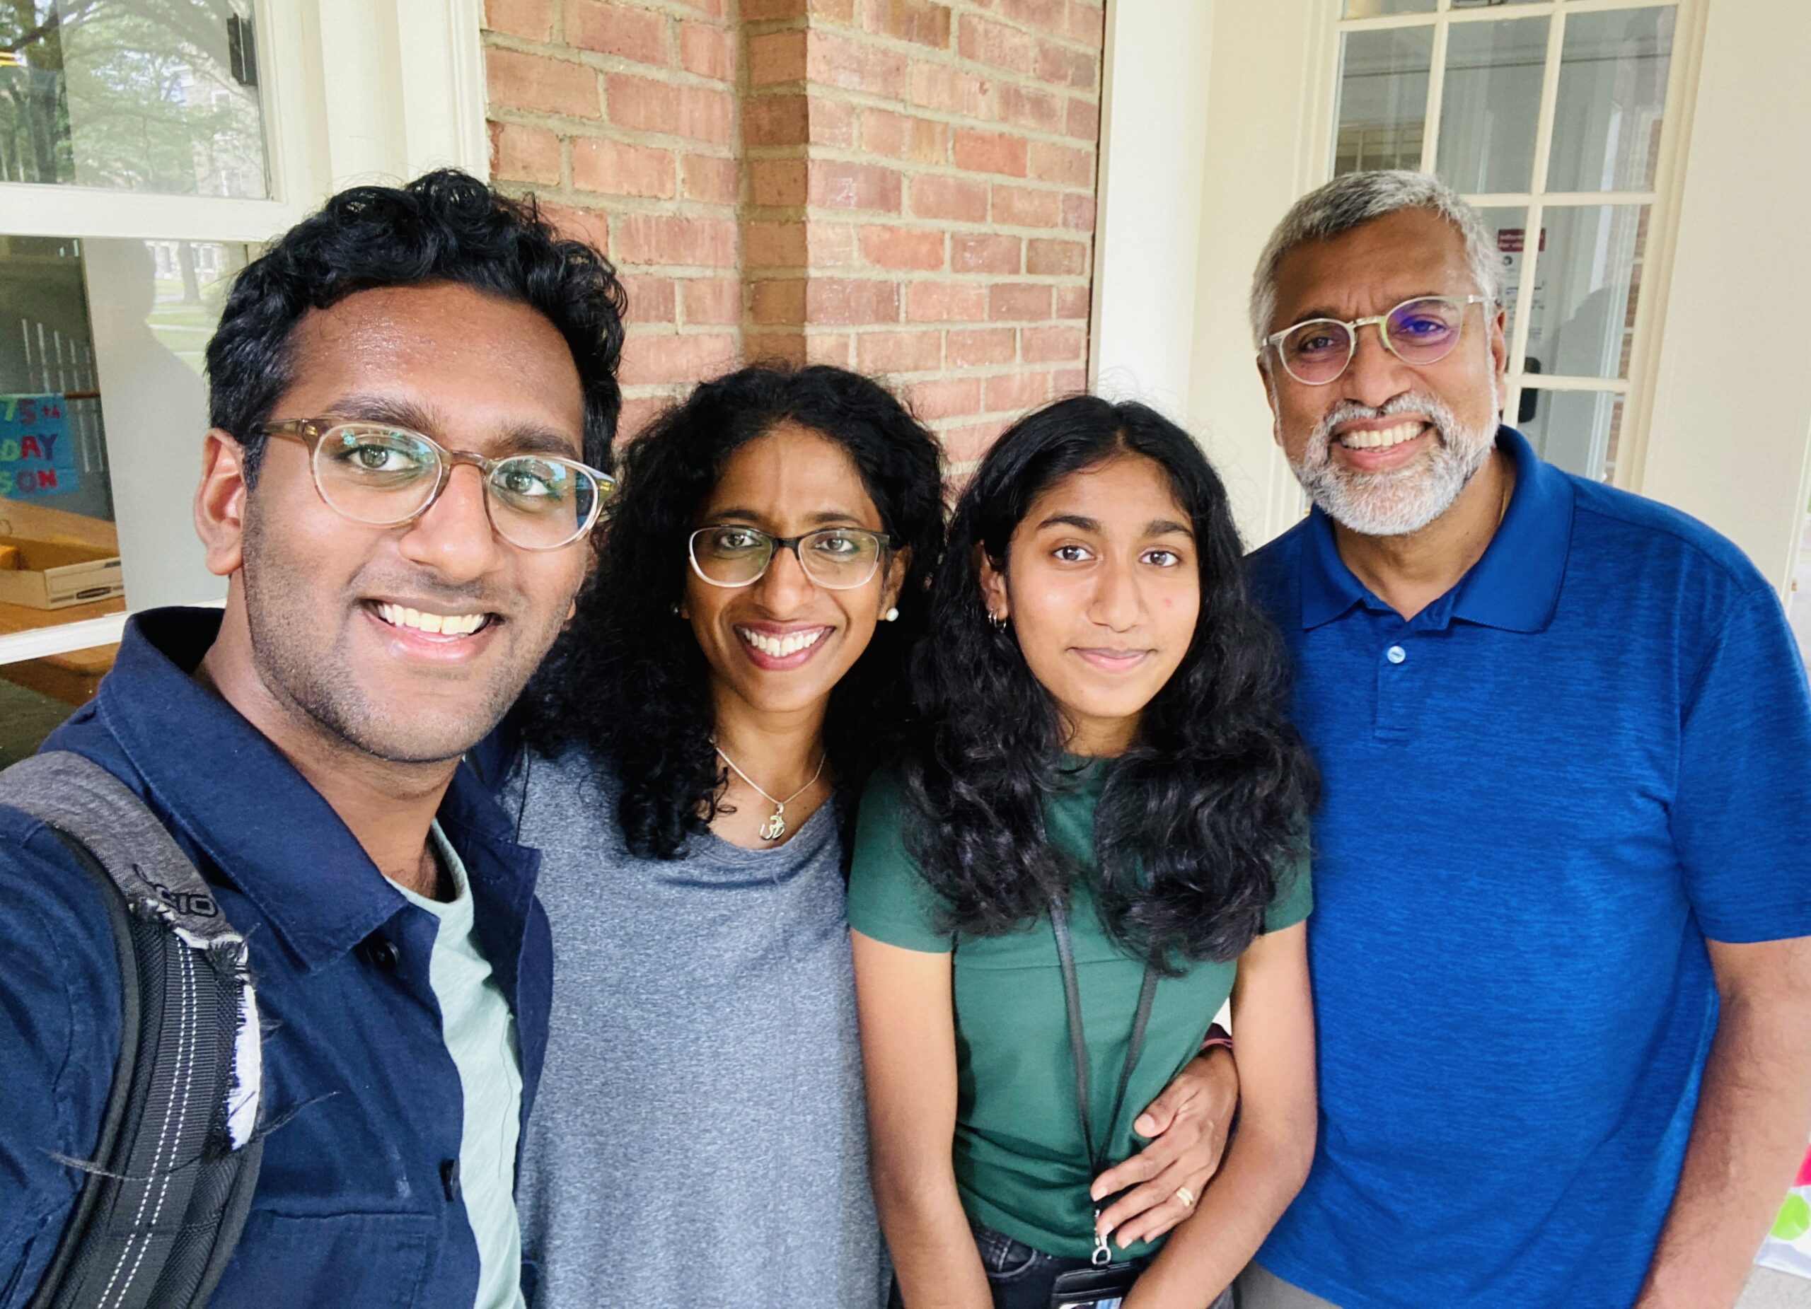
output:
[[[824,748],[844,826],[906,721],[907,657],[925,630],[944,540],[936,442],[882,386],[840,368],[759,364],[704,382],[625,451],[623,489],[592,534],[598,567],[520,710],[525,744],[545,755],[581,746],[616,775],[616,817],[643,858],[681,858],[728,784],[712,746],[710,668],[674,607],[685,599],[686,538],[724,463],[782,422],[848,451],[882,529],[911,550],[898,619],[877,626],[829,695]]]

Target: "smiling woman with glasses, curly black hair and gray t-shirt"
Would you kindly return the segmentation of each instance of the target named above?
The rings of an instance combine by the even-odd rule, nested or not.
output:
[[[554,934],[531,1302],[871,1309],[842,851],[906,721],[938,447],[864,377],[746,368],[630,442],[621,478],[503,797]],[[1164,1159],[1219,1150],[1217,1059],[1164,1092]]]

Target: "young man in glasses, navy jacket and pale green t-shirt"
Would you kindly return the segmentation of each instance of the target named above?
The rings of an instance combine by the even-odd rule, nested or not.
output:
[[[263,1166],[216,1305],[522,1300],[552,961],[536,856],[460,757],[585,578],[621,311],[601,257],[464,174],[328,201],[208,346],[196,527],[225,612],[136,616],[45,744],[125,782],[248,940]],[[129,1019],[101,889],[5,807],[0,903],[13,1309],[76,1208]]]

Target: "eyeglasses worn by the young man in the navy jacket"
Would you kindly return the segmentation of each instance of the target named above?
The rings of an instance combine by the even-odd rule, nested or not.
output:
[[[328,507],[371,527],[420,518],[446,491],[453,469],[471,463],[484,482],[484,511],[496,534],[523,550],[558,550],[592,529],[616,491],[616,478],[578,460],[558,454],[491,460],[449,451],[393,424],[290,418],[257,431],[302,442]]]

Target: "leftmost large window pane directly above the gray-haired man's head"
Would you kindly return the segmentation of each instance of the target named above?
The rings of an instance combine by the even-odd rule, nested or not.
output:
[[[1433,27],[1346,33],[1333,176],[1362,168],[1420,168]]]

